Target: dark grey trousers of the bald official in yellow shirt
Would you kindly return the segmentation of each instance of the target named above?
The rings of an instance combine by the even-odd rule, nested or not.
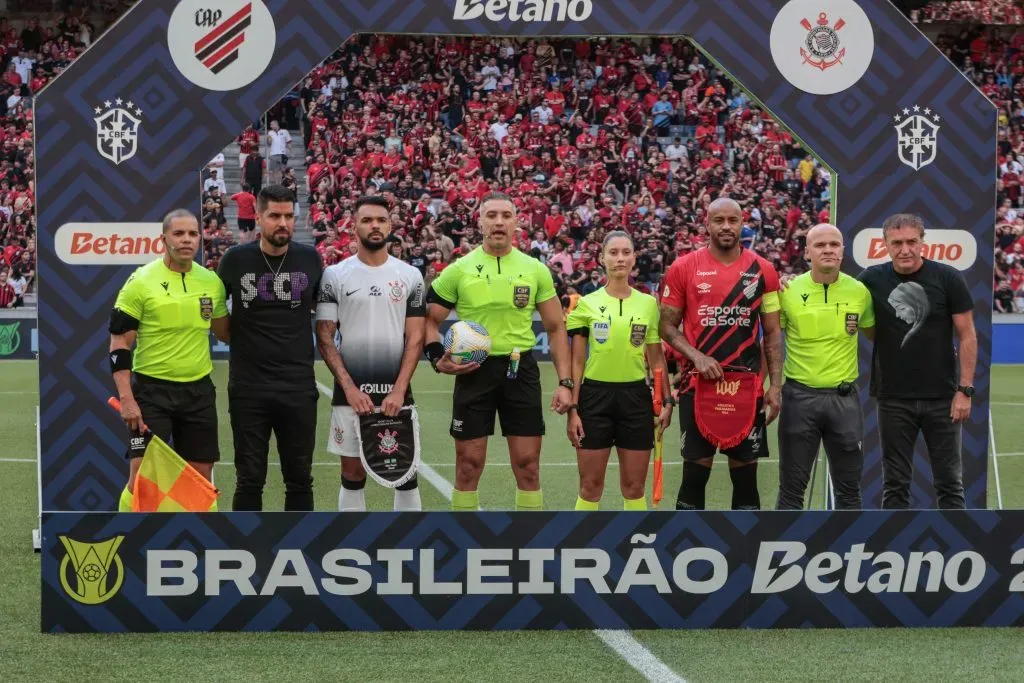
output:
[[[857,392],[814,389],[794,380],[782,385],[778,421],[778,500],[776,510],[802,510],[811,466],[821,441],[836,489],[837,510],[859,510],[864,419]]]

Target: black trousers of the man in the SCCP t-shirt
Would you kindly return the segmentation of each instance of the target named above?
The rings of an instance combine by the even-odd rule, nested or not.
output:
[[[231,509],[262,510],[270,432],[278,439],[285,510],[313,509],[313,449],[316,399],[313,392],[254,394],[228,389],[234,435],[234,499]]]

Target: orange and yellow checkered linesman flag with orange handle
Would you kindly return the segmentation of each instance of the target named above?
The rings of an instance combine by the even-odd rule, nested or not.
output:
[[[121,410],[117,398],[108,401]],[[211,512],[217,509],[217,488],[164,439],[153,432],[135,476],[132,512]]]

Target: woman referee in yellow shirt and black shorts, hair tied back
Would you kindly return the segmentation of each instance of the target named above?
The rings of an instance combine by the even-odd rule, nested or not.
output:
[[[608,275],[607,284],[580,299],[565,324],[572,338],[575,383],[566,425],[580,464],[575,509],[598,509],[608,456],[614,445],[618,452],[624,507],[646,510],[644,487],[654,446],[655,422],[647,367],[666,372],[657,332],[657,301],[629,285],[636,263],[629,234],[622,230],[609,232],[604,239],[601,260]],[[675,404],[670,384],[663,384],[659,431],[672,422]]]

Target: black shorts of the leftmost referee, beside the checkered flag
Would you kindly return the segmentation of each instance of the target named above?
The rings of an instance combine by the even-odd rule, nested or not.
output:
[[[209,376],[195,382],[168,382],[138,374],[133,378],[132,393],[150,431],[189,462],[220,460],[217,389]],[[140,458],[145,452],[137,438],[129,434],[126,458]]]

